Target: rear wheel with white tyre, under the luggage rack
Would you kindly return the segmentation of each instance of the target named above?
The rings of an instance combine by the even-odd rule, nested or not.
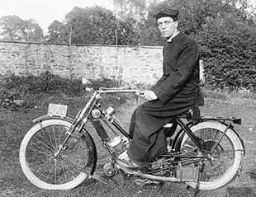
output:
[[[225,128],[225,124],[217,121],[201,122],[191,127],[192,132],[204,140],[202,152],[211,150]],[[181,142],[181,153],[197,154],[197,148],[187,134]],[[243,145],[237,134],[232,129],[228,129],[217,145],[216,151],[205,162],[199,190],[215,190],[233,181],[243,161]],[[197,186],[197,182],[186,183],[193,188]]]

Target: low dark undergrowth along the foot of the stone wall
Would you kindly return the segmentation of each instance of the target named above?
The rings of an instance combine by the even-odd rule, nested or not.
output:
[[[0,99],[2,106],[9,106],[9,101],[22,99],[26,101],[25,108],[35,106],[48,106],[49,102],[69,103],[80,100],[87,101],[88,92],[85,87],[117,87],[118,82],[111,79],[90,80],[83,85],[81,80],[67,79],[55,76],[49,72],[40,76],[15,76],[6,77],[1,82]],[[104,104],[116,101],[116,105],[126,101],[125,96],[108,95],[102,100]],[[6,105],[8,104],[8,105]],[[12,106],[12,105],[11,105]],[[80,107],[80,106],[79,106]]]

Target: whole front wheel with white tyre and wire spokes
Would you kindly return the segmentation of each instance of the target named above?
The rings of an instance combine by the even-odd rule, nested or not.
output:
[[[54,156],[70,125],[67,120],[43,120],[34,125],[21,142],[21,169],[26,178],[41,189],[73,189],[95,170],[96,148],[86,132],[79,135],[78,140],[70,137],[67,148],[58,157]]]

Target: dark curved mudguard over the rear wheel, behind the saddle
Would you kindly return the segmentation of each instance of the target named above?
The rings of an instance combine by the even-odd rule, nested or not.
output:
[[[212,117],[212,119],[210,119],[209,117],[206,117],[206,119],[204,119],[204,117],[201,118],[201,121],[197,124],[200,124],[201,122],[206,122],[208,120],[214,120],[216,122],[220,122],[221,124],[224,124],[225,126],[227,126],[228,124],[226,124],[223,120],[225,119],[221,119],[221,120],[216,120],[215,117]],[[230,120],[230,119],[226,119],[226,120]],[[192,121],[189,121],[187,122],[187,126],[189,128],[191,128],[192,126],[194,126],[196,124],[192,124]],[[242,146],[243,146],[243,149],[244,149],[244,156],[245,156],[245,146],[244,146],[244,140],[243,138],[240,137],[240,135],[237,133],[237,131],[234,129],[233,125],[231,124],[230,125],[230,129],[232,129],[232,131],[237,135],[237,137],[239,138],[239,141],[241,142]],[[181,143],[182,143],[182,140],[183,140],[183,137],[185,135],[185,131],[183,129],[180,129],[178,131],[178,134],[175,136],[175,138],[173,139],[173,149],[175,149],[176,151],[179,151],[180,150],[180,146],[181,146]]]

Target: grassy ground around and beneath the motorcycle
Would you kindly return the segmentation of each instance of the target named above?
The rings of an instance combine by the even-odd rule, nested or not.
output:
[[[26,107],[17,110],[0,108],[0,196],[189,196],[185,184],[166,183],[164,185],[136,185],[134,177],[118,174],[105,179],[107,185],[99,181],[84,181],[77,188],[69,191],[40,190],[24,176],[18,161],[18,152],[23,136],[31,128],[36,117],[45,115],[48,102],[68,104],[69,116],[73,117],[84,102],[82,97],[65,95],[38,95]],[[111,101],[111,100],[108,100]],[[111,101],[117,109],[121,123],[128,127],[131,112],[138,104],[133,98]],[[228,94],[206,91],[206,105],[201,108],[202,115],[236,116],[243,120],[242,125],[235,125],[244,138],[246,157],[244,170],[240,176],[219,190],[201,191],[199,196],[208,197],[253,197],[256,196],[256,101],[255,95]],[[99,149],[101,150],[101,149]],[[106,162],[104,152],[99,152],[97,171]]]

